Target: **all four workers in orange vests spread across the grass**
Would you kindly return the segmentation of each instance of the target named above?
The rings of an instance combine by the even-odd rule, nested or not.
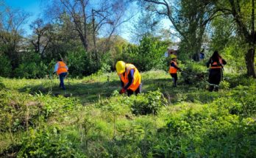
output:
[[[209,73],[209,91],[218,91],[218,85],[221,82],[222,69],[227,62],[222,59],[218,54],[218,51],[214,51],[212,57],[207,62],[207,68],[210,66]],[[133,93],[136,95],[141,93],[141,73],[135,67],[135,65],[125,63],[123,61],[118,61],[115,64],[116,72],[121,80],[121,90],[119,93],[126,93],[128,96],[131,96]],[[171,63],[169,66],[169,73],[173,79],[174,87],[177,87],[177,71],[182,71],[178,67],[177,56],[171,54]],[[60,87],[65,90],[64,79],[68,73],[68,66],[65,65],[65,62],[60,58],[54,68],[54,73],[60,78]]]

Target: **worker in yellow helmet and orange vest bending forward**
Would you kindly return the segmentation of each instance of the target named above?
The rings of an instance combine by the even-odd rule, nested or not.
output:
[[[121,94],[127,92],[128,96],[131,96],[134,92],[136,95],[141,93],[141,73],[135,65],[118,61],[115,68],[121,80]]]

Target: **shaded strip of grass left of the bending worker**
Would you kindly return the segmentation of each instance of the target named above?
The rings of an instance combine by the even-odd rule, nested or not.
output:
[[[79,82],[65,83],[66,90],[62,90],[56,83],[54,85],[29,85],[19,89],[19,92],[30,93],[32,95],[42,93],[52,96],[73,96],[79,98],[82,104],[90,104],[99,97],[110,97],[114,90],[120,89],[120,82]]]

